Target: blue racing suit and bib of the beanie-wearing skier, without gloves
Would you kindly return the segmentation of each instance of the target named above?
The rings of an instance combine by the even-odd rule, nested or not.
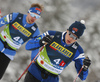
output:
[[[39,53],[39,56],[36,58],[36,63],[46,71],[51,74],[57,75],[54,77],[48,75],[47,79],[43,79],[41,76],[41,70],[33,63],[28,71],[41,82],[59,82],[58,75],[72,62],[75,62],[75,68],[77,73],[83,65],[84,51],[82,47],[77,43],[67,45],[65,43],[66,32],[58,31],[47,31],[42,35],[37,36],[26,44],[27,50],[32,50],[31,60],[37,55],[38,48],[41,47],[39,44],[40,39],[44,36],[50,35],[53,37],[53,40],[50,44],[47,44],[43,50]],[[88,70],[80,73],[79,78],[85,80],[88,75]]]

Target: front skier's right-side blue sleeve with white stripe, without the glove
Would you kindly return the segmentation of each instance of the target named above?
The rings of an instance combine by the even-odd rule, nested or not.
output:
[[[73,59],[75,61],[75,68],[76,68],[77,73],[79,73],[81,67],[83,66],[84,59],[85,59],[84,51],[81,48],[81,46],[79,46],[78,50],[76,51],[75,57]],[[81,80],[85,80],[87,78],[87,76],[88,76],[88,70],[86,70],[86,71],[82,70],[79,75],[79,78]]]

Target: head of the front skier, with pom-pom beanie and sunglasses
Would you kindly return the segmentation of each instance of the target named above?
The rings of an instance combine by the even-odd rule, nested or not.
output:
[[[85,30],[85,21],[75,21],[72,23],[72,25],[67,29],[66,35],[65,35],[65,42],[66,44],[72,44],[75,41],[77,41],[78,38],[80,38]]]

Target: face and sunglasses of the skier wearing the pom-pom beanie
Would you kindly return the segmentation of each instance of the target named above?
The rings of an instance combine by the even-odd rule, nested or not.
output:
[[[66,44],[72,44],[77,40],[77,36],[73,34],[72,32],[69,32],[67,30],[67,33],[65,35],[65,42]]]

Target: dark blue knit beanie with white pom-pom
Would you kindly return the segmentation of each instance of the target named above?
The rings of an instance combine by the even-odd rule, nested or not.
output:
[[[71,31],[73,34],[75,34],[78,38],[80,38],[80,36],[83,35],[84,30],[86,29],[84,23],[85,23],[84,20],[75,21],[75,22],[69,27],[68,30]]]

